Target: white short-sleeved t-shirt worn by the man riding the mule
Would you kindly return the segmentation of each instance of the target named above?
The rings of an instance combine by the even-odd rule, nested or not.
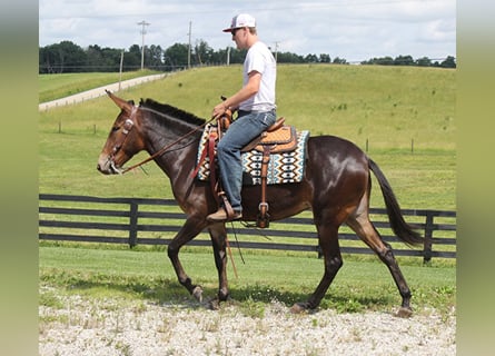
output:
[[[270,111],[275,105],[275,82],[277,81],[277,63],[268,47],[257,41],[253,44],[244,61],[244,86],[248,82],[251,71],[261,73],[261,82],[258,93],[242,101],[240,110],[245,111]]]

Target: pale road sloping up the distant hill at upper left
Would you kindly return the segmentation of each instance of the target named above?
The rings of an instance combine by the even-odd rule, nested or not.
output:
[[[91,90],[75,93],[73,96],[70,96],[70,97],[66,97],[66,98],[61,98],[61,99],[57,99],[57,100],[52,100],[52,101],[47,101],[47,102],[41,102],[38,105],[38,110],[44,111],[44,110],[61,107],[65,105],[77,103],[77,102],[95,99],[95,98],[107,95],[105,92],[105,89],[110,90],[110,91],[118,91],[119,89],[121,90],[121,89],[126,89],[126,88],[130,88],[130,87],[143,83],[143,82],[162,79],[166,76],[167,76],[166,73],[152,75],[152,76],[145,76],[145,77],[139,77],[139,78],[122,80],[120,82],[120,88],[119,88],[119,82],[106,85],[106,86],[102,86],[99,88],[95,88]]]

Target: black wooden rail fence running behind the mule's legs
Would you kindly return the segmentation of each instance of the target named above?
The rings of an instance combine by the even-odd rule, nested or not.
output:
[[[408,248],[393,236],[386,210],[372,208],[372,220],[396,256],[456,257],[456,212],[405,209],[408,222],[423,231],[424,246]],[[168,245],[186,216],[172,199],[99,198],[68,195],[39,195],[39,239],[87,243]],[[268,229],[228,225],[239,248],[315,251],[319,256],[316,228],[310,214],[270,222]],[[442,235],[443,234],[443,235]],[[446,236],[445,236],[446,235]],[[373,254],[347,227],[339,231],[344,254]],[[188,246],[210,246],[204,231]]]

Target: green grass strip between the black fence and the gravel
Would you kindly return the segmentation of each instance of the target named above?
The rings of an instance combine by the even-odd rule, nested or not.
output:
[[[194,283],[214,297],[218,286],[214,258],[209,250],[196,249],[180,255]],[[246,264],[235,254],[238,278],[229,261],[232,298],[245,304],[265,304],[276,299],[287,306],[306,300],[323,276],[323,260],[314,256],[246,253]],[[385,265],[375,260],[345,260],[329,288],[321,308],[340,313],[395,310],[400,297]],[[455,267],[424,267],[405,263],[402,270],[413,290],[413,307],[432,307],[449,313],[455,305]],[[194,303],[179,285],[164,251],[40,247],[40,284],[61,294],[91,298],[119,297],[155,303]],[[52,289],[49,289],[52,290]],[[52,293],[52,291],[49,291]],[[41,303],[53,303],[50,294]]]

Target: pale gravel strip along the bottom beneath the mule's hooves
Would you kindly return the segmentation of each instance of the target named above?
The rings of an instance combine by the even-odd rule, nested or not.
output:
[[[39,354],[65,355],[455,355],[455,310],[293,315],[263,310],[58,297],[40,306]],[[259,308],[259,305],[258,307]]]

